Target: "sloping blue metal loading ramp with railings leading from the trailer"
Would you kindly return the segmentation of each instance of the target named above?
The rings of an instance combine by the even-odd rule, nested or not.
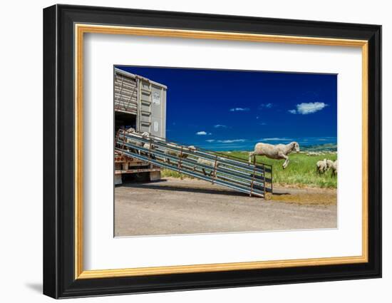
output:
[[[272,166],[185,146],[153,135],[118,130],[115,151],[249,196],[272,192]]]

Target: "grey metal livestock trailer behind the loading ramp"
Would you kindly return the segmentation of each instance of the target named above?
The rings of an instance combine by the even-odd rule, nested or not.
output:
[[[166,138],[166,91],[161,83],[115,68],[115,135],[120,129],[134,128]],[[126,174],[134,174],[136,180],[160,179],[160,168],[148,162],[115,153],[114,163],[115,184],[121,184]]]

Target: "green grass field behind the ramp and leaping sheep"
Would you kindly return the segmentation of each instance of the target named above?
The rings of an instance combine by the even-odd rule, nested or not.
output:
[[[237,158],[248,160],[247,152],[222,152]],[[324,158],[336,160],[336,153],[306,155],[306,153],[292,153],[289,155],[290,163],[286,169],[282,168],[284,160],[272,160],[264,156],[257,156],[257,163],[272,165],[274,184],[312,186],[319,188],[336,188],[337,178],[331,176],[331,171],[319,174],[316,171],[316,162]],[[163,177],[180,178],[180,174],[172,170],[163,170]]]

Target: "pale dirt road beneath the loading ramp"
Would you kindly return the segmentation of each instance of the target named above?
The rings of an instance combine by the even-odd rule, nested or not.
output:
[[[115,188],[115,235],[336,227],[336,190],[274,187],[271,200],[201,180],[165,178]]]

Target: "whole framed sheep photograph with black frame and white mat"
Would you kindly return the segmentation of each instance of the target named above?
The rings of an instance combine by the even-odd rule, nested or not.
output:
[[[43,10],[43,293],[381,277],[381,26]]]

